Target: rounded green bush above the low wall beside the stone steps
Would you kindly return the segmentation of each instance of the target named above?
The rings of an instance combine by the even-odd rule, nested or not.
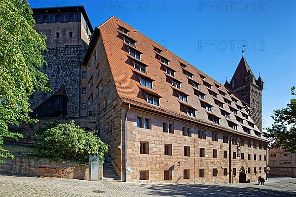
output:
[[[54,160],[72,160],[80,164],[88,163],[89,155],[97,155],[100,160],[104,160],[108,145],[95,136],[95,132],[85,131],[74,120],[63,124],[49,123],[37,136],[34,155]]]

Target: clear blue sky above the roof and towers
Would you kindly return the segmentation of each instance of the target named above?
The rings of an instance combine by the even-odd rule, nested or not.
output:
[[[241,59],[264,81],[262,127],[296,85],[296,0],[29,0],[31,7],[84,5],[94,27],[115,15],[217,81]]]

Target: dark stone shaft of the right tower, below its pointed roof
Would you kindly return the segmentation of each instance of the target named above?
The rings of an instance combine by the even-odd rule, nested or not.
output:
[[[261,103],[261,90],[253,85],[248,84],[235,90],[240,94],[245,101],[249,104],[251,111],[249,112],[252,120],[261,131],[262,127],[262,103]]]

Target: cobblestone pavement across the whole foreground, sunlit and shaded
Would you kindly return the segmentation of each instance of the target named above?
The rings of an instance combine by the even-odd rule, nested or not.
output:
[[[265,185],[94,182],[0,175],[0,197],[296,197],[296,178]]]

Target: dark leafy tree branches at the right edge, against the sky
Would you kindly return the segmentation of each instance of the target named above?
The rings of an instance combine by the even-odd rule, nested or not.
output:
[[[291,88],[296,95],[296,88]],[[272,147],[286,146],[287,151],[296,153],[296,99],[291,99],[286,108],[274,110],[271,128],[265,128],[263,135],[270,141],[275,141]]]

